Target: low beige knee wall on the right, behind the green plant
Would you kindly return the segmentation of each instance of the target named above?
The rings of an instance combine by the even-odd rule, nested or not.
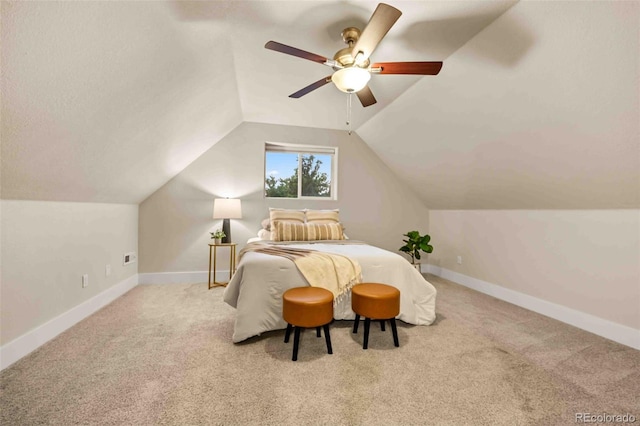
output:
[[[431,210],[429,222],[429,263],[640,330],[640,211]]]

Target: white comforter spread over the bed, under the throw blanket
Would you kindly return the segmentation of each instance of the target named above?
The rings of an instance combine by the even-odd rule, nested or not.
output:
[[[294,247],[337,253],[357,260],[363,282],[392,285],[400,290],[398,319],[429,325],[435,318],[436,289],[400,255],[367,244],[295,244]],[[237,309],[233,341],[240,342],[265,331],[284,329],[282,293],[309,284],[286,258],[247,252],[224,291],[224,301]],[[335,319],[354,319],[351,293],[334,308]]]

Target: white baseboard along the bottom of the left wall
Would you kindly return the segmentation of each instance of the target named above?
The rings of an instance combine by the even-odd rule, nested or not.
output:
[[[0,370],[4,370],[137,285],[138,275],[132,275],[91,299],[69,309],[67,312],[6,343],[0,347]]]

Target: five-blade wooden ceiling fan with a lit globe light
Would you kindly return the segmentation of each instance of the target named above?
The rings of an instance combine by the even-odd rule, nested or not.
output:
[[[371,89],[367,85],[371,74],[415,74],[436,75],[442,68],[442,62],[376,62],[371,64],[369,57],[378,43],[389,32],[402,12],[385,3],[378,4],[364,30],[349,27],[342,31],[342,39],[347,47],[340,49],[333,59],[316,55],[276,41],[267,42],[264,47],[287,55],[308,59],[334,69],[334,73],[307,87],[289,95],[300,98],[332,81],[336,87],[346,93],[356,93],[362,106],[376,103]]]

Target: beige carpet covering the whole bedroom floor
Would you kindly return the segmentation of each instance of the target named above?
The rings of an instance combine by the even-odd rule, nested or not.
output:
[[[563,425],[640,422],[640,352],[427,276],[437,322],[231,343],[222,288],[140,285],[0,373],[0,423]]]

